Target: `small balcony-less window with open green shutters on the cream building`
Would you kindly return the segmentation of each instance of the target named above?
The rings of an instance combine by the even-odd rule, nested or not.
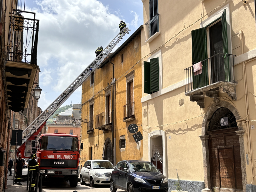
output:
[[[144,93],[159,91],[159,61],[152,58],[150,62],[144,61]]]

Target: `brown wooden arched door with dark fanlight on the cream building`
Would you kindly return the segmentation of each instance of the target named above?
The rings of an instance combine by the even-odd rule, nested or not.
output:
[[[223,118],[228,123],[223,122]],[[236,117],[228,108],[220,107],[209,119],[207,130],[212,188],[220,192],[227,189],[243,190]]]

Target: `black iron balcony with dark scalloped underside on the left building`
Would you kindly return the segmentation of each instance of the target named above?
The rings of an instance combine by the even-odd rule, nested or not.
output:
[[[10,16],[9,21],[9,49],[5,72],[9,109],[18,112],[28,107],[34,79],[39,69],[37,66],[39,20],[35,19],[35,13],[24,10],[13,10],[13,15]]]

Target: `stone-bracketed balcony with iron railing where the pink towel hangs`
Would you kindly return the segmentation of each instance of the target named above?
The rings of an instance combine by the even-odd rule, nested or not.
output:
[[[227,93],[236,100],[234,81],[234,59],[236,55],[218,53],[202,61],[202,73],[194,74],[193,66],[185,70],[185,95],[190,101],[196,101],[204,108],[204,97],[217,98],[220,93]]]

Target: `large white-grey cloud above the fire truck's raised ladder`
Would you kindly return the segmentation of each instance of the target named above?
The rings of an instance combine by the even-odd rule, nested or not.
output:
[[[49,68],[51,58],[58,61],[51,72],[40,73],[41,84],[49,85],[54,79],[55,92],[62,92],[95,58],[96,48],[107,46],[118,33],[120,18],[97,0],[42,0],[37,4],[40,9],[27,11],[36,12],[40,20],[38,65]]]

